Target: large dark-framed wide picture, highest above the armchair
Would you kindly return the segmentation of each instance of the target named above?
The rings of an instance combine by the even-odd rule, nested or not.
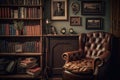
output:
[[[104,1],[82,1],[81,14],[82,15],[104,15],[105,2]]]

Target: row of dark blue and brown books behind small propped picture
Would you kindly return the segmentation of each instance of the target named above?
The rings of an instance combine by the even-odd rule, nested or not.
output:
[[[0,40],[0,53],[15,52],[39,52],[40,43],[38,41],[27,41],[23,43]]]

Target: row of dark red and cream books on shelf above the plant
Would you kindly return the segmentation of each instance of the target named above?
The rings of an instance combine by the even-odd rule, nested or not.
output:
[[[39,7],[1,7],[0,18],[40,18]]]

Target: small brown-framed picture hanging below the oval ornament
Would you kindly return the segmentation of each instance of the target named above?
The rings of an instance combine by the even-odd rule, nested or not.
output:
[[[79,16],[71,16],[70,17],[70,26],[81,26],[82,19]]]

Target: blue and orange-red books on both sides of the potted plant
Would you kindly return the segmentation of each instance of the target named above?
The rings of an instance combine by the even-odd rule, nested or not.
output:
[[[39,24],[26,24],[23,28],[23,35],[40,35],[41,27]],[[18,30],[14,28],[14,24],[1,23],[0,35],[18,35]]]

